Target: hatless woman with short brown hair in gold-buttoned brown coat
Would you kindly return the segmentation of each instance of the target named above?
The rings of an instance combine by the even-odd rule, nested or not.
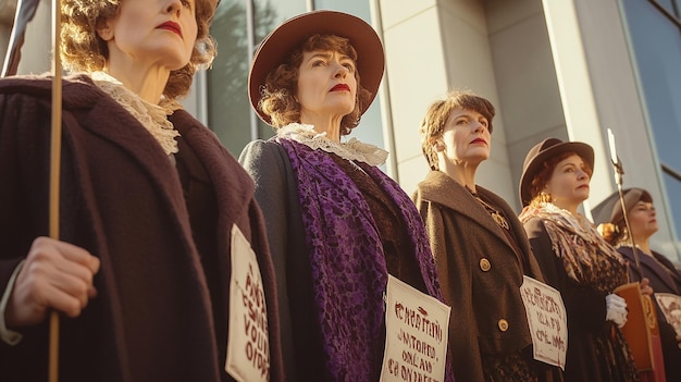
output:
[[[537,381],[556,372],[559,381],[557,368],[532,360],[520,286],[525,274],[542,276],[522,224],[504,199],[475,184],[478,167],[490,157],[494,114],[485,98],[453,91],[431,104],[420,130],[432,171],[413,200],[451,305],[454,375]]]

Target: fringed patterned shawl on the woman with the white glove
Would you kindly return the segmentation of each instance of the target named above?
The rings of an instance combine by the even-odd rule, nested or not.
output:
[[[525,207],[520,221],[525,223],[531,218],[542,220],[554,254],[562,259],[568,276],[578,284],[610,293],[627,283],[622,256],[606,243],[586,218],[573,215],[550,202]]]

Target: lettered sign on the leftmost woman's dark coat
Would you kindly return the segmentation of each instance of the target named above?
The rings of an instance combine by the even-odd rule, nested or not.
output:
[[[268,309],[256,252],[242,231],[232,227],[230,333],[225,371],[239,382],[270,380]]]

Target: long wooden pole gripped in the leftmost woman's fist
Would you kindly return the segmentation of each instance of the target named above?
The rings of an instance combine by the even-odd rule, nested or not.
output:
[[[61,3],[52,0],[52,120],[50,135],[50,237],[59,239],[59,185],[62,136]],[[49,381],[59,381],[59,313],[50,313]]]

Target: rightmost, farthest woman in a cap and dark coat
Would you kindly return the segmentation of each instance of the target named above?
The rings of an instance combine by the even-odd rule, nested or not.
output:
[[[605,239],[616,246],[617,250],[629,261],[630,279],[640,281],[645,276],[651,281],[651,286],[655,293],[672,294],[681,298],[681,274],[667,257],[651,248],[651,236],[658,230],[651,194],[643,188],[624,190],[624,206],[631,233],[624,223],[620,199],[615,198],[614,201],[609,223],[600,224],[598,229]],[[632,238],[636,247],[641,270],[635,267],[636,259],[631,247]],[[659,335],[665,358],[665,374],[667,381],[681,381],[680,337],[659,309],[659,304],[657,307]]]

